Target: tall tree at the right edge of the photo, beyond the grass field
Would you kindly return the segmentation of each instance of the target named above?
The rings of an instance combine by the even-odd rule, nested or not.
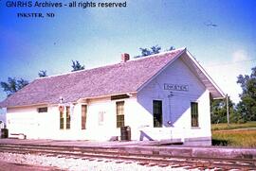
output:
[[[246,121],[256,121],[256,66],[251,68],[251,75],[239,75],[237,83],[243,90],[239,94],[241,101],[237,105],[237,111]]]

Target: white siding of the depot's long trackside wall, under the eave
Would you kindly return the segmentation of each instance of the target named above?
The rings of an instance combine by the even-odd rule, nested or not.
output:
[[[48,107],[47,112],[38,112],[39,106],[8,109],[7,127],[9,134],[24,133],[27,139],[109,140],[112,136],[120,136],[120,129],[117,128],[117,101],[124,101],[125,125],[137,125],[133,119],[136,117],[134,106],[137,105],[137,100],[131,97],[89,101],[86,104],[86,129],[81,126],[82,104],[70,106],[70,129],[60,129],[60,111],[57,105]],[[102,122],[99,122],[100,113],[103,115]]]

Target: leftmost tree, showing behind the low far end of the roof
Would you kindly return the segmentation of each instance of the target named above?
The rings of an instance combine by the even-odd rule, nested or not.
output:
[[[0,82],[0,84],[4,92],[9,96],[27,86],[28,81],[23,78],[16,79],[15,77],[8,77],[8,82]]]

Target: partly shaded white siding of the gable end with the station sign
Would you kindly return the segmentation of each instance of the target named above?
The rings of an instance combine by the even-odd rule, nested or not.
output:
[[[188,92],[164,90],[164,83],[189,85]],[[153,127],[153,100],[162,100],[163,128]],[[169,137],[192,138],[210,137],[210,94],[204,85],[195,77],[192,71],[180,59],[175,60],[161,74],[155,77],[138,94],[137,101],[141,105],[141,112],[147,112],[148,125],[144,128],[154,139],[168,139]],[[198,103],[199,128],[191,127],[191,102]],[[145,113],[143,113],[145,115]],[[171,134],[171,121],[174,125]],[[175,133],[178,132],[178,133]],[[174,135],[177,134],[177,135]]]

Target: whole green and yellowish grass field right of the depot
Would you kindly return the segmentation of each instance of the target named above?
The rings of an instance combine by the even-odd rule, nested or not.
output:
[[[256,122],[212,125],[211,130],[212,145],[256,147]]]

